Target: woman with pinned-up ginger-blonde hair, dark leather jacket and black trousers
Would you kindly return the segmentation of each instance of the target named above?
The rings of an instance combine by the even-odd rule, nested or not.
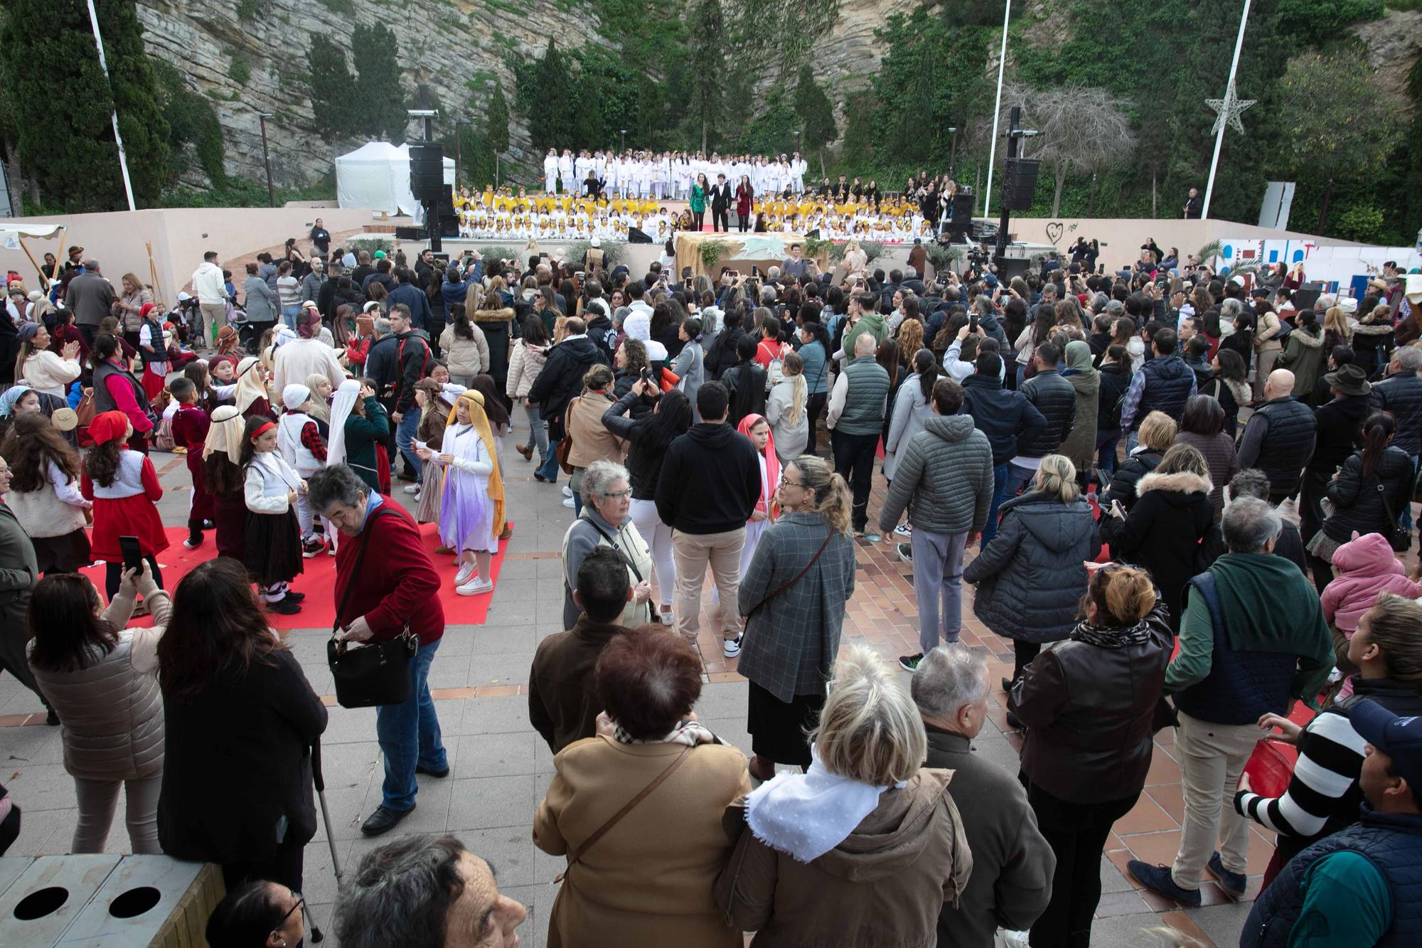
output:
[[[1032,924],[1034,945],[1089,941],[1101,853],[1112,824],[1145,787],[1173,646],[1165,605],[1145,569],[1105,567],[1084,585],[1082,621],[1066,642],[1037,656],[1007,705],[1027,726],[1027,800],[1057,854],[1051,901]]]

